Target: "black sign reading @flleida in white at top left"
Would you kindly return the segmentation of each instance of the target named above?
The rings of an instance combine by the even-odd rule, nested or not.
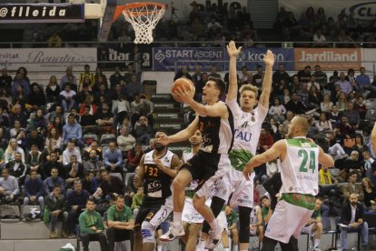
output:
[[[0,23],[82,23],[84,4],[0,4]]]

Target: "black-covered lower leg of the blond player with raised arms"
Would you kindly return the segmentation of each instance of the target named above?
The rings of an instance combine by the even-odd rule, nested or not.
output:
[[[239,206],[239,242],[240,250],[246,251],[250,246],[250,224],[252,208]]]

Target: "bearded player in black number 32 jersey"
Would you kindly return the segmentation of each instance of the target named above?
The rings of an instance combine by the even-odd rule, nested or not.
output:
[[[134,186],[143,186],[143,204],[135,219],[134,250],[153,251],[155,230],[173,211],[171,185],[180,165],[179,157],[161,145],[157,132],[154,150],[144,154],[140,160],[140,168],[134,176]],[[141,229],[141,232],[140,232]]]

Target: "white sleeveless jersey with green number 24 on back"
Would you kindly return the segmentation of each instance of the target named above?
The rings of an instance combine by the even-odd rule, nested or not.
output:
[[[281,162],[282,194],[316,196],[319,192],[319,146],[306,137],[285,139],[286,156]]]

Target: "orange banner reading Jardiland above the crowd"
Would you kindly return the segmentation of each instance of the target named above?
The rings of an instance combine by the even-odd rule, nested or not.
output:
[[[322,66],[322,70],[359,69],[361,49],[359,48],[295,48],[295,70],[302,70],[306,65]]]

